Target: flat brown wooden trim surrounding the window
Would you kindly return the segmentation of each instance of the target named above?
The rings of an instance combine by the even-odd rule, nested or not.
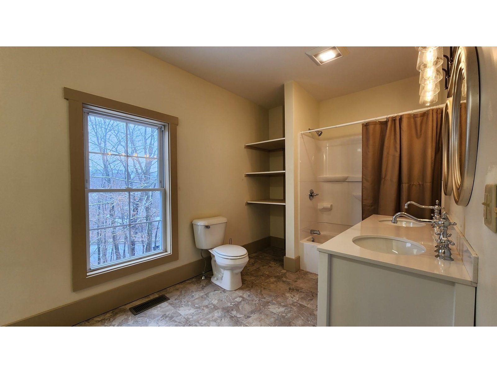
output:
[[[71,168],[71,228],[73,254],[73,290],[81,290],[106,281],[138,273],[178,260],[178,203],[177,203],[177,153],[176,131],[178,118],[158,111],[109,98],[76,91],[64,87],[64,98],[69,102],[69,144]],[[101,271],[87,273],[86,257],[86,190],[85,190],[85,140],[83,105],[94,106],[99,110],[112,110],[124,116],[133,115],[148,120],[168,123],[169,175],[163,175],[165,197],[169,199],[170,213],[170,253],[137,259],[122,265],[103,268]],[[166,149],[167,148],[167,149]],[[168,183],[167,183],[168,179]],[[166,216],[167,216],[166,215]]]

